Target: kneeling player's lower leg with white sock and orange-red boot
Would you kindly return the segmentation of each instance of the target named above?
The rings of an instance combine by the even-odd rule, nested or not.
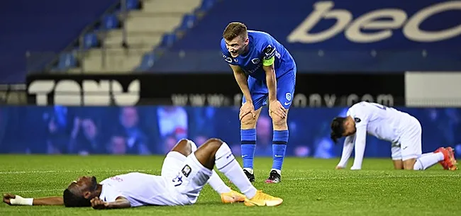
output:
[[[435,152],[422,154],[418,159],[406,159],[403,162],[406,170],[425,170],[437,163],[442,164],[444,169],[457,169],[457,161],[451,147],[440,147]]]

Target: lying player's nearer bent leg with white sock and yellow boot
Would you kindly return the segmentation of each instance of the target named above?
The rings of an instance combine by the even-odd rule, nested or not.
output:
[[[194,156],[201,165],[208,169],[213,169],[216,164],[218,170],[226,175],[245,194],[247,197],[245,205],[275,206],[282,204],[283,200],[281,198],[275,198],[262,193],[262,191],[257,191],[252,186],[226,142],[218,139],[207,140],[194,152]]]

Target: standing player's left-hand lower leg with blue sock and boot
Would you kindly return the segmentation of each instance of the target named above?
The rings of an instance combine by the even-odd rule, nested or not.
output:
[[[243,160],[243,171],[251,182],[255,181],[253,161],[256,149],[256,123],[260,117],[261,108],[255,110],[255,118],[251,114],[243,116],[240,120],[240,142]]]

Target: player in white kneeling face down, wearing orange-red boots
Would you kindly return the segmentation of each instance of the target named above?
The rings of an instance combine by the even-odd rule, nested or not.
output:
[[[392,143],[391,157],[395,169],[425,170],[440,162],[444,169],[457,169],[451,147],[421,154],[421,124],[408,113],[378,103],[360,102],[349,108],[347,117],[337,117],[331,123],[331,139],[346,137],[343,155],[336,169],[345,168],[355,147],[354,164],[350,169],[362,169],[367,133]]]

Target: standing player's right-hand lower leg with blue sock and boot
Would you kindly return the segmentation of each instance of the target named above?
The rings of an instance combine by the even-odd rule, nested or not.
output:
[[[279,183],[282,175],[282,164],[285,157],[285,150],[288,143],[288,109],[285,118],[272,114],[272,127],[274,133],[272,137],[272,169],[266,183]]]

